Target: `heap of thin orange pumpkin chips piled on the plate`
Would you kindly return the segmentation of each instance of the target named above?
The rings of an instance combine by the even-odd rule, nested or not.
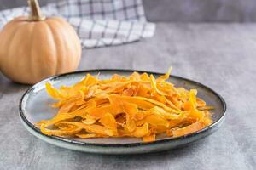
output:
[[[212,123],[197,90],[175,88],[167,82],[172,68],[155,78],[133,72],[100,80],[87,74],[73,86],[54,88],[45,84],[58,112],[52,119],[37,122],[47,135],[88,138],[133,137],[151,142],[158,134],[178,137],[194,133]]]

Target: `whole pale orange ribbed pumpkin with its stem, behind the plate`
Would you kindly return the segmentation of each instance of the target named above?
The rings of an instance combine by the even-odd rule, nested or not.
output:
[[[81,58],[79,37],[66,20],[46,18],[38,0],[28,0],[31,14],[11,20],[0,33],[0,69],[6,77],[32,84],[74,71]]]

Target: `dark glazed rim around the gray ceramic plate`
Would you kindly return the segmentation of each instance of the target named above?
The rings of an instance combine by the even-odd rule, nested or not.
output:
[[[196,131],[194,133],[189,133],[187,135],[183,135],[183,136],[176,137],[176,138],[168,138],[168,139],[155,140],[153,142],[148,142],[148,143],[136,142],[136,143],[127,143],[127,144],[86,143],[86,142],[82,142],[82,141],[78,141],[78,140],[73,140],[73,139],[67,139],[67,138],[64,138],[64,137],[58,137],[58,136],[54,136],[54,135],[53,136],[49,136],[49,135],[46,135],[46,134],[42,133],[38,127],[35,127],[32,124],[32,122],[29,122],[26,119],[25,113],[23,111],[23,105],[22,105],[23,104],[23,100],[25,99],[25,97],[27,95],[30,94],[30,92],[33,89],[37,88],[42,83],[55,80],[55,79],[57,79],[59,77],[65,77],[65,76],[77,75],[77,74],[89,73],[89,72],[101,72],[101,71],[117,71],[117,72],[120,72],[120,71],[123,71],[123,72],[137,71],[139,73],[147,72],[148,74],[154,74],[154,75],[158,75],[158,76],[165,74],[165,73],[156,72],[156,71],[139,71],[139,70],[131,70],[131,69],[92,69],[92,70],[72,71],[72,72],[67,72],[67,73],[63,73],[63,74],[58,74],[58,75],[55,75],[55,76],[52,76],[52,77],[47,77],[47,78],[44,78],[42,81],[37,82],[36,84],[32,85],[32,87],[28,88],[26,90],[26,92],[21,96],[20,104],[19,104],[19,112],[20,112],[19,115],[20,115],[21,121],[25,122],[26,125],[31,127],[37,133],[40,133],[41,135],[44,135],[45,137],[47,137],[49,139],[61,140],[62,142],[66,142],[68,144],[78,144],[78,145],[81,145],[81,146],[100,146],[100,147],[136,147],[136,146],[141,146],[141,145],[145,146],[145,145],[150,145],[150,144],[162,144],[162,143],[166,143],[166,142],[175,142],[175,141],[178,141],[178,140],[181,140],[181,139],[187,139],[187,138],[194,137],[194,136],[199,135],[201,133],[206,133],[207,131],[211,130],[212,127],[215,127],[219,123],[224,121],[224,117],[226,115],[226,108],[227,108],[227,106],[226,106],[226,102],[224,101],[224,98],[220,94],[215,92],[212,88],[209,88],[206,85],[202,84],[201,82],[195,82],[194,80],[190,80],[189,78],[179,77],[179,76],[176,76],[176,75],[171,75],[171,77],[175,77],[177,79],[181,79],[181,80],[185,80],[185,81],[188,81],[188,82],[192,82],[192,83],[194,83],[194,84],[196,84],[196,85],[198,85],[198,86],[200,86],[202,88],[207,88],[207,90],[209,90],[212,94],[216,95],[218,97],[219,101],[221,102],[221,104],[223,105],[223,111],[221,112],[222,116],[220,116],[218,118],[218,120],[213,122],[210,126],[204,127],[203,129],[201,129],[199,131]]]

